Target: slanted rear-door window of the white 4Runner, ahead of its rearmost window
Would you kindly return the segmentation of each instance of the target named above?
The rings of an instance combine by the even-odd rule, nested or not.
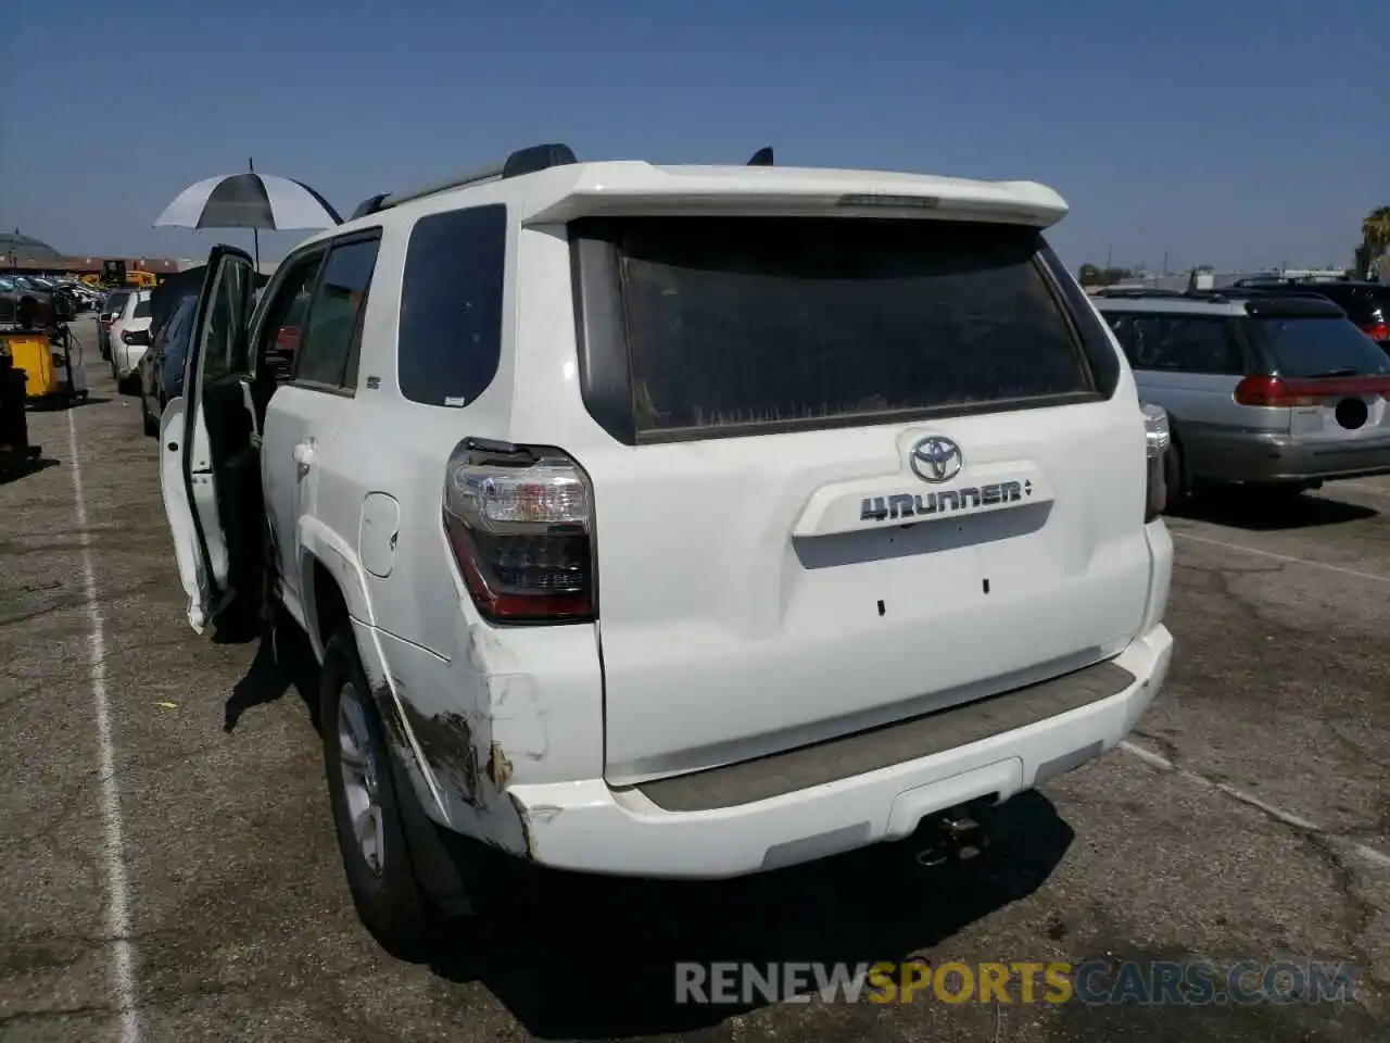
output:
[[[295,381],[328,388],[356,388],[354,355],[357,324],[381,239],[356,239],[334,245],[309,305],[306,327],[295,352]],[[352,364],[349,364],[352,362]],[[349,382],[349,373],[352,381]]]

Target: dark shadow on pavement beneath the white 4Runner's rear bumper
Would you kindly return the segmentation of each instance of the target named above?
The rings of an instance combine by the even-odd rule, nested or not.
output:
[[[677,964],[899,961],[1033,894],[1073,840],[1038,791],[991,809],[994,844],[927,869],[912,840],[721,882],[538,875],[513,905],[441,939],[432,969],[481,982],[532,1036],[691,1032],[767,1003],[677,1003]],[[813,986],[815,987],[815,986]]]

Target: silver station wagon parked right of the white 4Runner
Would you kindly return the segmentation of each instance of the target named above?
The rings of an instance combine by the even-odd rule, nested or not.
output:
[[[1202,484],[1298,494],[1390,474],[1390,357],[1333,302],[1290,289],[1113,289],[1094,303],[1168,410],[1169,509]]]

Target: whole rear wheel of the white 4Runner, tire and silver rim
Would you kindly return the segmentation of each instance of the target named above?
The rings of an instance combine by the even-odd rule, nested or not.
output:
[[[324,649],[320,720],[328,797],[357,915],[382,948],[421,957],[436,915],[406,844],[391,751],[350,630]]]

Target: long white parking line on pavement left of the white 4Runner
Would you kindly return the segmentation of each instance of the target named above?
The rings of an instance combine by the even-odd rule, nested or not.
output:
[[[125,840],[121,823],[121,791],[115,782],[115,745],[111,741],[111,708],[106,694],[106,620],[97,601],[96,570],[92,567],[92,537],[88,533],[86,495],[82,492],[82,464],[78,462],[78,427],[68,412],[68,448],[72,458],[72,494],[76,499],[78,538],[82,545],[82,585],[86,595],[92,702],[96,706],[97,777],[101,784],[101,854],[106,859],[106,930],[111,939],[111,983],[121,1017],[121,1043],[138,1043],[140,1017],[135,1005],[135,946],[131,943],[129,901],[125,883]]]

